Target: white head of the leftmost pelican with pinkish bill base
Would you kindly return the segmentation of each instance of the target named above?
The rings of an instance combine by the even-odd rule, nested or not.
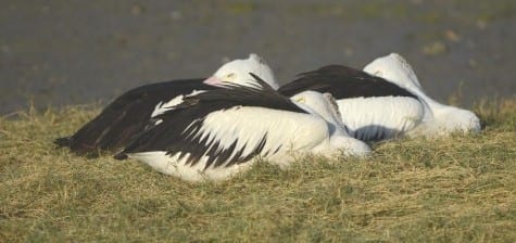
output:
[[[249,73],[261,77],[273,89],[279,88],[270,67],[262,57],[254,53],[250,54],[246,60],[237,59],[224,64],[212,77],[204,80],[204,84],[211,86],[224,86],[224,84],[252,86],[256,81]]]

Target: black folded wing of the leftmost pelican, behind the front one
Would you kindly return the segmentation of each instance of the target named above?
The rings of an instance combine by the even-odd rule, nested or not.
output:
[[[141,132],[160,103],[166,103],[192,90],[213,89],[203,79],[174,80],[141,86],[115,99],[97,117],[71,137],[55,143],[76,153],[98,150],[116,151],[129,144]]]

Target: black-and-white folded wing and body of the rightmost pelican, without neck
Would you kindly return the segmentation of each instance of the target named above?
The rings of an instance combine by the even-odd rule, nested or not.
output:
[[[286,95],[304,90],[331,93],[349,133],[364,141],[402,135],[416,127],[424,114],[419,99],[408,90],[347,66],[302,73],[279,88]]]

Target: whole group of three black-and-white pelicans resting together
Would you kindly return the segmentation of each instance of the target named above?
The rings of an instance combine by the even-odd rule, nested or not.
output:
[[[364,69],[328,65],[279,86],[256,54],[209,78],[123,93],[59,146],[112,153],[187,181],[227,180],[259,161],[288,168],[316,154],[367,156],[368,142],[480,131],[469,111],[429,98],[411,65],[391,53]]]

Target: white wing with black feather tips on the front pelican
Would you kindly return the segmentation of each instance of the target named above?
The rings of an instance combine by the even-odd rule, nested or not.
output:
[[[186,165],[231,166],[255,155],[314,148],[329,136],[324,119],[307,113],[257,106],[193,105],[174,110],[123,153],[164,151]],[[204,159],[201,159],[204,158]]]

